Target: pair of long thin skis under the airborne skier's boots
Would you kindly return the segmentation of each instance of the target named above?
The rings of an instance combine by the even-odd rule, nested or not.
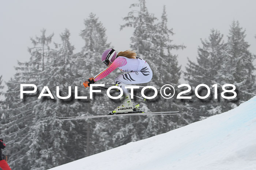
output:
[[[132,112],[132,113],[116,113],[113,115],[96,115],[96,116],[74,116],[74,117],[59,117],[55,116],[55,120],[80,120],[80,119],[91,119],[91,118],[105,118],[113,116],[138,116],[138,115],[177,115],[179,111],[165,111],[165,112]]]

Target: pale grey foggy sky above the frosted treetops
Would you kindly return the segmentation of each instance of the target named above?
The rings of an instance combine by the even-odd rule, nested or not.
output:
[[[28,61],[27,47],[32,47],[30,37],[40,35],[46,28],[46,35],[54,32],[53,41],[59,43],[59,34],[68,28],[75,52],[84,46],[80,30],[84,29],[83,20],[90,12],[96,14],[106,28],[108,41],[117,51],[128,50],[132,28],[120,31],[124,24],[122,17],[131,10],[129,5],[138,0],[1,0],[0,6],[0,75],[8,81],[14,74],[17,60]],[[187,46],[185,50],[173,51],[178,54],[182,70],[187,57],[195,60],[200,38],[206,39],[210,29],[215,28],[225,36],[232,20],[238,20],[246,28],[246,41],[250,50],[256,54],[256,1],[253,0],[147,0],[150,13],[160,19],[163,5],[166,5],[169,28],[176,33],[172,39],[176,44]],[[101,56],[99,56],[100,58]],[[254,62],[256,64],[256,62]],[[100,70],[99,70],[100,71]],[[83,78],[82,78],[83,79]],[[84,78],[86,79],[86,78]],[[183,82],[184,80],[181,80]]]

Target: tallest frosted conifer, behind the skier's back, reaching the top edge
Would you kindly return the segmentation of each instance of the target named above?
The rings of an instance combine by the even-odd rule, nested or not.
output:
[[[152,41],[154,40],[154,32],[157,29],[155,24],[157,18],[153,13],[148,12],[145,0],[139,0],[138,3],[131,4],[130,8],[132,10],[128,12],[127,16],[123,17],[126,23],[121,25],[120,30],[125,27],[134,28],[133,35],[130,38],[130,47],[139,57],[150,62],[150,53],[154,48]],[[151,69],[153,70],[154,68],[151,67]],[[136,102],[136,100],[133,102]],[[146,137],[142,135],[143,130],[145,130],[145,124],[143,124],[143,119],[140,116],[122,119],[122,122],[118,123],[121,128],[113,136],[114,141],[124,145],[131,141],[147,138],[147,135]]]

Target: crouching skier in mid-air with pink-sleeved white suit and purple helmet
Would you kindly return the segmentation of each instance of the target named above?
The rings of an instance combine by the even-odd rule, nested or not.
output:
[[[134,51],[127,50],[121,51],[118,54],[114,49],[108,49],[103,52],[101,56],[102,63],[106,64],[108,68],[103,70],[94,77],[84,81],[84,87],[90,87],[90,84],[103,79],[110,72],[114,71],[117,67],[125,74],[118,75],[115,78],[115,84],[140,84],[147,83],[152,79],[153,73],[148,63],[139,58]],[[121,86],[123,96],[121,96],[121,105],[114,109],[114,112],[132,112],[133,104],[129,96],[127,88]]]

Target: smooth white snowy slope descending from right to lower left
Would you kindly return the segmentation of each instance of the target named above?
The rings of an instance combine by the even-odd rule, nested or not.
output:
[[[256,96],[228,112],[51,170],[256,170]]]

